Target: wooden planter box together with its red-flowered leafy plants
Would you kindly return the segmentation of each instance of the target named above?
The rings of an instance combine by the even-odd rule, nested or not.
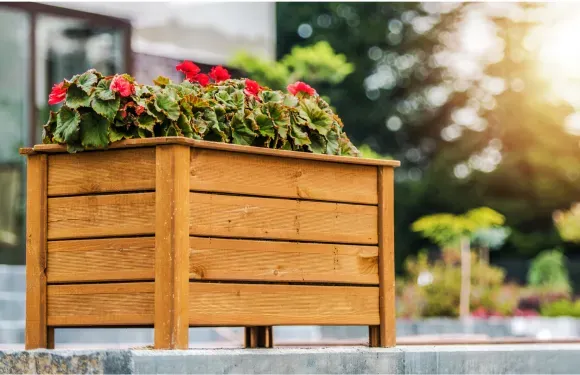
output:
[[[47,144],[21,149],[26,347],[69,326],[153,326],[156,348],[186,348],[190,326],[271,347],[274,325],[366,325],[394,345],[399,163],[349,157],[306,84],[178,69],[180,84],[88,71],[54,88]]]

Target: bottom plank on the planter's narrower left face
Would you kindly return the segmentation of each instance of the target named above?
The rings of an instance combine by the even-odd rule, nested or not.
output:
[[[48,286],[48,325],[152,325],[154,283]]]

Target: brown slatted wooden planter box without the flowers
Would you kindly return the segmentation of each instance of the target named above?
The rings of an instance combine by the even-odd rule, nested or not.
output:
[[[127,140],[28,158],[26,348],[55,327],[366,325],[395,345],[397,161],[195,141]]]

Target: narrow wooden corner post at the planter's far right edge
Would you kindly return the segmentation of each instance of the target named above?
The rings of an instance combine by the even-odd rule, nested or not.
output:
[[[379,167],[380,346],[396,345],[394,169]]]

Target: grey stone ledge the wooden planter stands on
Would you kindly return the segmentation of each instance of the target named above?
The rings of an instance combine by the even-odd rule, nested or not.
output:
[[[0,374],[571,374],[580,344],[0,351]]]

